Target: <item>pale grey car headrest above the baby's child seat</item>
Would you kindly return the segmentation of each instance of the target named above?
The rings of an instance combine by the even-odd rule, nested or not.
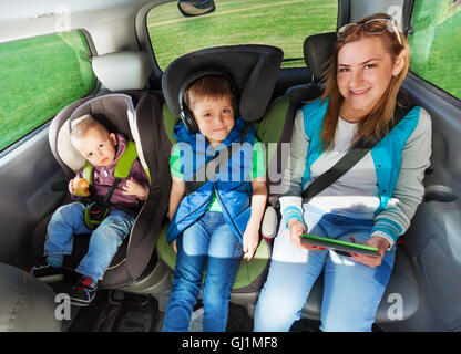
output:
[[[144,52],[114,52],[91,60],[94,74],[110,91],[143,90],[153,64]]]

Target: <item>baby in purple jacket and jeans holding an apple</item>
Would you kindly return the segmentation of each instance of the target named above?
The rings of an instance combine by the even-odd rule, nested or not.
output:
[[[114,169],[125,152],[127,140],[122,134],[109,133],[91,115],[80,119],[72,128],[71,142],[94,167],[93,195],[105,197],[114,185]],[[83,168],[69,183],[73,198],[90,195],[88,190],[79,190],[82,176]],[[62,278],[63,257],[72,253],[73,235],[92,232],[88,253],[75,269],[82,277],[69,293],[72,304],[89,305],[95,295],[98,281],[103,278],[117,248],[130,232],[141,200],[145,200],[147,194],[147,175],[136,158],[129,176],[113,190],[107,216],[93,232],[84,222],[85,206],[82,202],[60,207],[48,225],[48,239],[44,243],[47,259],[29,272],[43,281]]]

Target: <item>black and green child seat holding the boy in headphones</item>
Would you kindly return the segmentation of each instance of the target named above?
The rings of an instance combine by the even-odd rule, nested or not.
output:
[[[172,62],[163,76],[163,93],[166,101],[163,107],[164,126],[172,146],[176,143],[173,127],[180,122],[177,97],[184,80],[204,69],[225,69],[233,76],[239,92],[240,116],[254,122],[257,138],[266,144],[267,183],[270,192],[272,186],[276,186],[280,179],[270,175],[270,171],[280,170],[276,165],[277,156],[280,160],[280,143],[289,143],[293,129],[294,110],[289,98],[280,97],[269,104],[281,56],[281,50],[274,46],[230,45],[196,51]],[[273,146],[269,146],[269,143]],[[166,241],[166,227],[158,239],[157,251],[162,262],[172,271],[176,254]],[[267,275],[269,258],[270,242],[263,239],[254,259],[250,262],[242,261],[230,301],[238,303],[240,299],[243,304],[254,305],[257,291]],[[250,294],[250,298],[246,296],[247,294]],[[253,304],[248,304],[248,299]]]

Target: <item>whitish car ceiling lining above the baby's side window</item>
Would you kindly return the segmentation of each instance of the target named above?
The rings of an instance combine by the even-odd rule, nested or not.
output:
[[[162,0],[16,0],[0,2],[0,42],[59,32],[60,29],[85,29],[101,53],[119,50],[114,38],[134,34],[137,11]],[[102,11],[103,10],[103,11]],[[65,17],[66,14],[70,14]],[[62,30],[61,30],[62,31]],[[115,33],[114,33],[115,32]],[[115,34],[115,35],[114,35]],[[104,43],[107,41],[107,43]],[[130,41],[129,41],[130,42]],[[95,43],[98,44],[98,43]]]

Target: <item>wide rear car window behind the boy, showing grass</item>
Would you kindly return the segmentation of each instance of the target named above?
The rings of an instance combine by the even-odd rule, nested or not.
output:
[[[147,14],[147,29],[158,66],[195,50],[232,44],[269,44],[284,50],[283,67],[305,66],[306,37],[336,30],[338,1],[218,0],[216,10],[185,18],[177,1]]]

